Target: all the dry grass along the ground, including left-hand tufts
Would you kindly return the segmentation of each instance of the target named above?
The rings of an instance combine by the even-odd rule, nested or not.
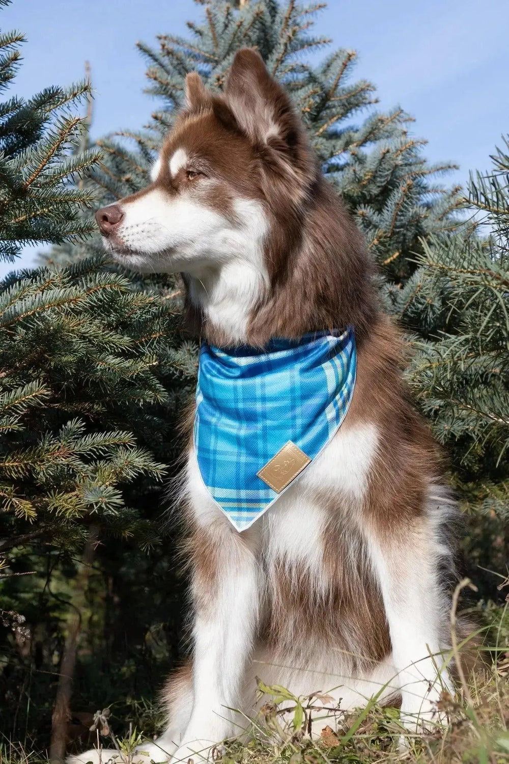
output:
[[[485,656],[484,667],[469,678],[460,678],[456,698],[443,693],[440,711],[446,714],[448,724],[437,724],[424,736],[407,737],[407,750],[399,747],[402,730],[394,708],[379,707],[370,701],[366,708],[355,712],[337,710],[335,730],[329,726],[330,720],[329,724],[324,720],[321,736],[311,739],[310,720],[316,721],[323,714],[317,708],[317,698],[295,698],[283,688],[267,688],[260,683],[264,705],[256,719],[243,717],[248,737],[243,736],[243,742],[225,741],[215,756],[222,759],[222,764],[509,762],[509,610],[507,605],[484,606],[482,610],[487,624],[485,646],[477,649]],[[449,658],[453,658],[453,652]],[[118,743],[113,733],[104,739],[105,747],[112,747],[111,740],[118,746],[118,764],[131,764],[134,749],[143,740],[133,727],[139,721],[130,720],[130,734],[119,737]],[[3,745],[0,743],[0,764],[48,764],[48,760],[19,743],[5,740]]]

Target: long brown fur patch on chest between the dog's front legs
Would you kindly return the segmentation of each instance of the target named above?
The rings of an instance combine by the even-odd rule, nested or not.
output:
[[[342,651],[353,672],[372,668],[391,652],[382,594],[361,539],[344,518],[338,522],[333,506],[324,529],[323,573],[327,583],[321,591],[306,568],[288,568],[284,560],[276,564],[270,576],[267,643],[275,656],[292,656],[295,665],[307,665],[313,645],[324,652]]]

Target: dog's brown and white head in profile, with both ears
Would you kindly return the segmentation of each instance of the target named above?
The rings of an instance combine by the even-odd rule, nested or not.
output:
[[[224,95],[195,73],[185,86],[150,186],[96,213],[105,248],[134,270],[198,279],[242,261],[263,287],[317,171],[304,129],[254,50],[237,53]]]

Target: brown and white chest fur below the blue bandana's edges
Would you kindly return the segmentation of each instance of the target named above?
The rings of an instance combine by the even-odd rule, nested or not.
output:
[[[219,544],[223,539],[226,547],[227,536],[236,534],[250,547],[263,580],[262,639],[287,658],[295,646],[306,645],[308,653],[321,646],[323,652],[324,645],[338,639],[351,656],[382,659],[389,649],[388,636],[380,638],[385,615],[362,534],[378,431],[372,423],[349,426],[347,419],[263,517],[241,534],[208,494],[195,452],[188,458],[188,506],[200,529],[195,538],[205,534],[201,538],[210,536]],[[195,549],[198,558],[202,554]]]

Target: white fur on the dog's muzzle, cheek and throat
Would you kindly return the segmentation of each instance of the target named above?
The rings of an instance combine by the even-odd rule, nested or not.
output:
[[[173,170],[183,160],[179,151],[171,160]],[[162,189],[121,206],[124,219],[116,238],[128,254],[117,252],[118,261],[141,272],[184,271],[192,302],[230,342],[242,342],[250,311],[269,281],[263,259],[269,226],[259,202],[236,199],[233,222]],[[104,241],[110,251],[119,247]]]

